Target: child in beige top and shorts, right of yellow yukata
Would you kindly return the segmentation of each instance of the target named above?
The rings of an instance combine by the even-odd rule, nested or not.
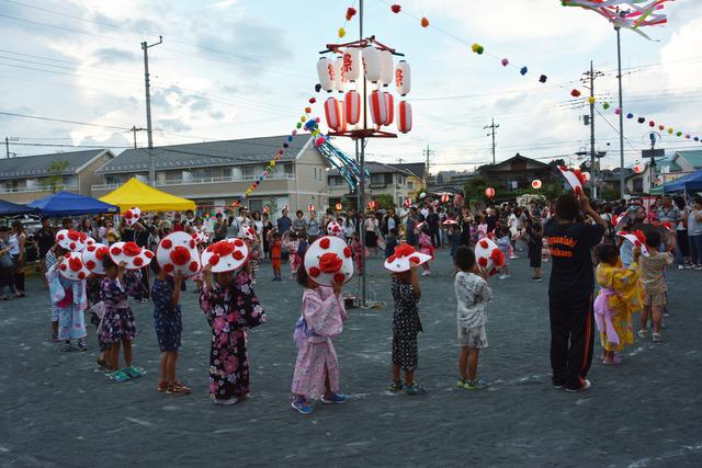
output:
[[[653,321],[654,332],[652,339],[655,343],[661,341],[660,328],[663,310],[666,305],[666,277],[664,272],[667,265],[671,265],[675,258],[671,252],[659,252],[663,242],[660,232],[649,230],[646,232],[646,247],[649,255],[642,256],[638,262],[641,264],[641,283],[644,286],[644,310],[641,315],[641,329],[638,336],[645,339],[648,336],[648,321]],[[675,249],[672,243],[670,249]]]

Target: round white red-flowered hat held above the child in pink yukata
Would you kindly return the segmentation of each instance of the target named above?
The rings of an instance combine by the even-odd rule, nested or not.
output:
[[[348,283],[353,277],[351,248],[335,236],[320,237],[307,248],[305,271],[320,286]]]

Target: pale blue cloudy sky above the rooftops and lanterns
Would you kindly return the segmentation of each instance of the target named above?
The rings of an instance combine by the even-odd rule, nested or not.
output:
[[[155,145],[286,134],[313,94],[318,50],[337,41],[354,3],[0,0],[0,111],[94,125],[0,115],[0,137],[49,145],[15,144],[19,156],[71,150],[50,145],[131,145],[122,128],[146,126],[139,43],[159,34],[163,44],[149,49]],[[569,90],[584,90],[578,80],[590,59],[605,72],[597,82],[600,100],[615,101],[615,35],[592,12],[559,0],[398,3],[411,15],[365,0],[364,28],[411,64],[415,125],[398,139],[372,140],[369,159],[422,161],[429,146],[432,171],[473,169],[491,158],[483,127],[492,116],[500,125],[498,161],[518,151],[544,160],[571,155],[589,141],[579,121],[586,109],[570,109]],[[647,31],[655,41],[622,32],[625,112],[702,136],[702,2],[677,0],[666,10],[669,24]],[[420,27],[412,15],[441,31]],[[355,37],[358,15],[346,27]],[[485,55],[471,53],[474,42]],[[510,67],[499,64],[502,57]],[[546,84],[537,82],[541,73]],[[612,110],[601,111],[609,123],[599,115],[596,122],[605,165],[619,160]],[[647,134],[646,125],[626,121],[627,162],[647,147]],[[137,138],[146,145],[145,133]],[[660,145],[700,147],[667,134]]]

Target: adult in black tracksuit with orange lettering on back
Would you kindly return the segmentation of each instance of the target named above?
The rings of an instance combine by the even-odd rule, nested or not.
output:
[[[580,209],[596,222],[581,221]],[[591,249],[602,240],[607,222],[588,198],[565,194],[556,202],[555,217],[544,226],[553,267],[548,283],[551,367],[553,385],[568,391],[591,387],[586,378],[592,363],[592,295],[595,278]]]

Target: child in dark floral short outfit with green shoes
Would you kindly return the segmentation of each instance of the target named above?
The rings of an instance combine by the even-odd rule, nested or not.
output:
[[[117,383],[141,377],[143,373],[132,362],[132,341],[136,336],[134,312],[127,304],[127,290],[124,285],[124,263],[117,265],[105,255],[105,277],[100,283],[100,298],[104,305],[104,316],[100,334],[104,343],[110,344],[106,353],[107,376]],[[120,345],[124,350],[124,368],[120,368]]]

